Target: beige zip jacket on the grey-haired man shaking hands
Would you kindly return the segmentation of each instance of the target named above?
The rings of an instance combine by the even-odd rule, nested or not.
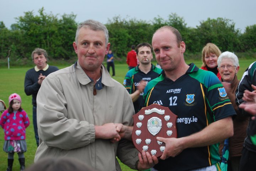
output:
[[[116,156],[135,169],[138,151],[131,141],[111,143],[95,139],[95,125],[132,125],[133,103],[127,90],[101,66],[102,89],[77,62],[48,75],[37,94],[39,147],[34,161],[45,157],[72,157],[94,170],[121,170]]]

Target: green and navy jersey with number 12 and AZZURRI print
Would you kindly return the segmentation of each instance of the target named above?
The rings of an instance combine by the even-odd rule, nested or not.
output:
[[[164,71],[150,81],[144,90],[143,102],[144,106],[159,104],[169,107],[178,116],[178,138],[199,132],[214,121],[236,115],[217,76],[193,63],[176,81],[166,78]],[[154,168],[183,171],[214,165],[220,161],[218,145],[185,149],[174,158],[159,160]]]

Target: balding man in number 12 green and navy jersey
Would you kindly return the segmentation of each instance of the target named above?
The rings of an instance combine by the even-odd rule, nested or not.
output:
[[[143,106],[160,104],[178,116],[177,138],[156,135],[165,150],[153,170],[219,171],[218,142],[233,136],[236,114],[223,85],[214,73],[186,64],[177,29],[159,28],[152,47],[163,72],[145,87]]]

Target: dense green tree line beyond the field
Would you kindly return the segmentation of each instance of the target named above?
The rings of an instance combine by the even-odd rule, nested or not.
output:
[[[0,59],[10,55],[13,59],[30,58],[35,48],[47,50],[52,59],[69,60],[75,57],[73,42],[79,23],[76,15],[62,16],[45,13],[44,8],[24,13],[16,18],[17,23],[8,29],[0,21]],[[221,51],[256,52],[256,24],[247,26],[244,33],[235,29],[235,23],[226,18],[208,18],[196,28],[187,27],[183,17],[171,13],[167,19],[160,16],[151,21],[115,16],[105,23],[109,31],[109,42],[115,57],[125,58],[131,45],[151,43],[152,35],[161,26],[177,28],[186,43],[186,52],[198,53],[211,42]],[[10,52],[10,54],[9,54]]]

